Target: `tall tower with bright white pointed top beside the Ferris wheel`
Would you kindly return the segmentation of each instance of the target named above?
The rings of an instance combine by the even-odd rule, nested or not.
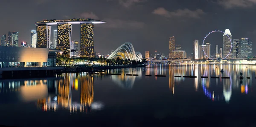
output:
[[[230,42],[230,39],[232,40],[232,34],[230,33],[229,29],[225,30],[225,34],[223,34],[223,57],[226,57],[227,55],[227,59],[232,58],[232,54],[230,52],[231,50],[231,46],[232,46],[232,42]],[[230,54],[229,54],[230,53]]]

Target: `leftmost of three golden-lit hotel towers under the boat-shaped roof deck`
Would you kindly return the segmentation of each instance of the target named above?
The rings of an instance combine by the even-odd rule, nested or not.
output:
[[[36,48],[50,48],[51,25],[38,24],[36,27]]]

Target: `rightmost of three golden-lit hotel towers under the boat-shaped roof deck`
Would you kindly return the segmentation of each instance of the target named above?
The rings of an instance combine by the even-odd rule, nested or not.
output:
[[[80,28],[80,57],[95,57],[92,23],[81,23]]]

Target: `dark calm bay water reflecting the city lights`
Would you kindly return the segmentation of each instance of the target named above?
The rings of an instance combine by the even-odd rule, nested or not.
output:
[[[241,70],[243,80],[239,80]],[[64,73],[50,79],[1,80],[0,124],[255,127],[255,70],[254,65],[148,66],[107,72],[122,76]]]

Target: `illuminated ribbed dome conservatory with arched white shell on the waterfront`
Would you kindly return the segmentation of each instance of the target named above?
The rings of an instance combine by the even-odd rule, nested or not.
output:
[[[130,42],[125,42],[108,56],[107,59],[116,59],[117,57],[121,59],[140,60],[142,59],[142,54],[140,52],[135,52],[134,47]]]

